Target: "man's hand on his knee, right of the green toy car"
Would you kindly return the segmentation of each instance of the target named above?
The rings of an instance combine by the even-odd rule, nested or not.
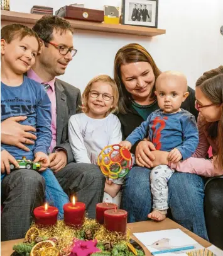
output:
[[[67,153],[64,150],[50,154],[49,168],[54,172],[59,172],[67,165]]]

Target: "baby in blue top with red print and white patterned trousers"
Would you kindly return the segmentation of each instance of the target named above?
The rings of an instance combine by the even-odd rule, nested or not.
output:
[[[159,110],[151,113],[148,119],[137,127],[121,145],[128,149],[140,139],[148,137],[157,150],[170,151],[170,162],[178,162],[192,156],[199,143],[195,118],[180,108],[189,93],[187,79],[177,71],[166,71],[156,79]],[[168,209],[167,182],[173,174],[167,165],[159,165],[151,170],[151,193],[153,211],[148,218],[161,221],[166,218]]]

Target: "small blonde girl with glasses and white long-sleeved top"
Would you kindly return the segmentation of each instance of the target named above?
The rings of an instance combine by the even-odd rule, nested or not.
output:
[[[97,165],[102,149],[122,140],[121,123],[113,114],[118,100],[116,82],[109,76],[96,76],[87,84],[82,95],[83,113],[72,115],[68,124],[70,146],[77,162]],[[122,179],[106,180],[104,201],[112,202],[121,184]]]

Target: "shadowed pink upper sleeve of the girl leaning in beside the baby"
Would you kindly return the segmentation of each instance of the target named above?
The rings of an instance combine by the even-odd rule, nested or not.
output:
[[[202,117],[200,116],[197,120],[197,126],[199,128],[199,145],[197,146],[197,149],[195,153],[193,153],[192,157],[194,158],[205,158],[207,156],[207,151],[209,150],[210,144],[207,140],[207,136],[204,133],[204,125],[205,123],[202,122]]]

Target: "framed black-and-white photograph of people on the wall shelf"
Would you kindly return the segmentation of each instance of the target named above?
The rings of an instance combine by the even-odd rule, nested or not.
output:
[[[122,24],[157,28],[158,0],[122,0]]]

